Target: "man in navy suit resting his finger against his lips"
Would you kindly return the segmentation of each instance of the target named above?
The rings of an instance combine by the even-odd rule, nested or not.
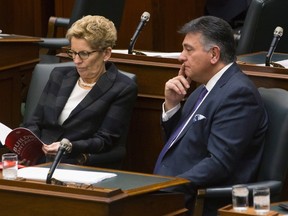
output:
[[[235,63],[233,31],[226,21],[203,16],[180,33],[185,35],[179,57],[183,64],[178,76],[165,84],[162,114],[170,140],[154,172],[190,180],[169,190],[185,193],[192,210],[197,188],[255,180],[268,117],[257,88]],[[201,85],[181,107],[192,80]],[[208,92],[194,107],[203,87]],[[225,204],[213,200],[204,214],[216,215]]]

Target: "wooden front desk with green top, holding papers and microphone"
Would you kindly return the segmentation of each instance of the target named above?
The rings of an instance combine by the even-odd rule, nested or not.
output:
[[[96,183],[93,188],[0,179],[1,215],[159,216],[186,212],[182,194],[159,190],[187,180],[65,164],[58,168],[106,171],[117,176]]]

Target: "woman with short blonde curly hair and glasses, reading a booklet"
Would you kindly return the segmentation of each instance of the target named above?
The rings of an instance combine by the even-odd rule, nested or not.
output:
[[[45,143],[45,155],[55,155],[67,138],[72,149],[61,162],[119,168],[137,85],[108,61],[116,28],[105,17],[89,15],[76,21],[66,37],[75,67],[52,71],[25,127]]]

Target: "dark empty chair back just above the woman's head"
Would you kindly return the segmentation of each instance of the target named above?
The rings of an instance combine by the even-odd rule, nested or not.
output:
[[[75,0],[69,27],[78,19],[86,15],[101,15],[114,22],[119,30],[125,0]]]

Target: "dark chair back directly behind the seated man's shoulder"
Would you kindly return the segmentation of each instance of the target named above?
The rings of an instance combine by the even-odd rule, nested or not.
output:
[[[284,182],[288,168],[288,91],[279,88],[259,88],[265,104],[269,127],[258,181]]]

